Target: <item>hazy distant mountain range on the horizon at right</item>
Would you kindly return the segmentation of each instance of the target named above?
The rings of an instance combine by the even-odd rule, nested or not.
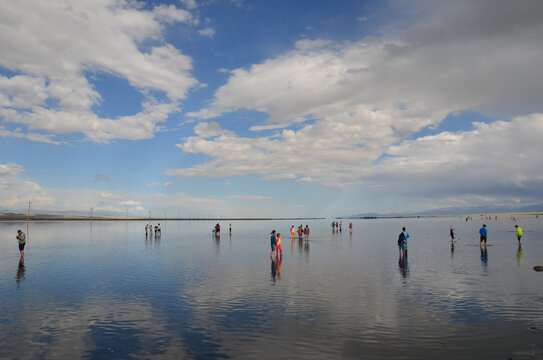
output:
[[[462,214],[500,214],[500,213],[543,213],[543,204],[534,205],[496,205],[496,206],[472,206],[472,207],[446,207],[419,212],[406,213],[363,213],[345,216],[345,218],[361,218],[361,217],[400,217],[400,216],[430,216],[430,215],[462,215]]]

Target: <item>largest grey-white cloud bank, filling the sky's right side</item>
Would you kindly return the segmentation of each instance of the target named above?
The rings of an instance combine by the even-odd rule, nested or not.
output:
[[[501,178],[496,185],[501,186],[502,195],[523,193],[523,187],[535,189],[538,170],[503,173],[499,170],[503,158],[488,154],[528,154],[537,146],[538,141],[529,133],[516,130],[523,124],[539,133],[537,123],[543,112],[543,4],[408,4],[420,15],[413,19],[414,25],[358,42],[304,39],[290,52],[230,71],[227,83],[216,91],[210,106],[188,115],[208,120],[240,109],[259,111],[269,115],[266,123],[253,122],[250,128],[277,129],[276,133],[249,138],[216,130],[212,137],[195,128],[195,136],[177,146],[185,153],[202,153],[212,160],[170,169],[168,174],[257,174],[267,180],[358,185],[377,193],[379,188],[388,191],[398,185],[384,186],[389,183],[387,179],[397,177],[393,170],[387,173],[385,165],[392,169],[409,161],[409,166],[400,167],[410,169],[408,173],[420,181],[411,184],[417,193],[424,192],[417,184],[426,184],[427,189],[435,189],[442,196],[448,187],[477,193],[484,187],[481,183],[485,177],[476,176],[481,169],[475,169],[475,164],[487,167],[487,175]],[[412,139],[422,129],[437,128],[447,115],[468,110],[505,120],[477,124],[474,131],[463,134]],[[533,115],[522,117],[529,114]],[[511,117],[515,120],[508,120]],[[512,127],[512,133],[500,134],[514,139],[511,143],[489,142],[486,150],[482,143],[475,146],[479,134],[494,138],[498,128],[507,126]],[[457,139],[454,150],[462,159],[471,159],[473,171],[463,160],[447,161],[451,151],[438,151],[437,144],[449,144],[449,137]],[[433,146],[428,150],[429,143]],[[516,164],[529,166],[516,160]],[[427,175],[425,169],[435,172],[429,178],[447,185],[430,186],[423,176],[416,176]],[[473,178],[460,186],[467,171],[468,178]]]

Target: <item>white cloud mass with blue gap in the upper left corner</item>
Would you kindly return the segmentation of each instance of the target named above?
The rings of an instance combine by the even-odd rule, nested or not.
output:
[[[179,100],[198,84],[192,59],[162,39],[164,25],[197,24],[173,5],[145,10],[137,2],[58,0],[7,2],[0,15],[0,121],[33,130],[31,140],[80,133],[93,141],[145,139],[179,111]],[[22,31],[21,29],[24,29]],[[151,46],[143,46],[147,41]],[[118,118],[93,111],[102,95],[88,74],[108,73],[141,91],[143,110]],[[160,91],[167,100],[150,94]],[[41,134],[39,137],[37,134]]]

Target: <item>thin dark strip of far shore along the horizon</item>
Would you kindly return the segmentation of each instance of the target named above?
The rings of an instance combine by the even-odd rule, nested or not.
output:
[[[24,215],[0,214],[0,222],[12,221],[254,221],[254,220],[372,220],[372,219],[417,219],[417,218],[466,218],[466,217],[516,217],[539,216],[543,212],[489,213],[489,214],[447,214],[447,215],[382,215],[361,217],[136,217],[136,216],[74,216],[74,215]]]

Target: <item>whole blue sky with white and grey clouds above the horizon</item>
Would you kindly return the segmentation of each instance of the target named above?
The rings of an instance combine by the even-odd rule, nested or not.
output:
[[[0,210],[543,203],[540,0],[0,0]]]

